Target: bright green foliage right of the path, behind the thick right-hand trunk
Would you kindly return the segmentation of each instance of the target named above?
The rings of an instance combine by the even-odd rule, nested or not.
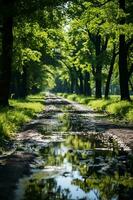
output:
[[[127,5],[129,6],[130,2],[126,2],[126,9]],[[117,0],[107,2],[103,0],[71,2],[68,4],[66,12],[63,32],[64,42],[61,49],[63,66],[58,71],[57,78],[60,81],[57,81],[57,88],[59,88],[57,91],[86,94],[86,91],[79,91],[81,86],[79,74],[82,74],[83,79],[85,79],[84,72],[87,71],[90,73],[88,82],[93,94],[98,91],[95,89],[95,87],[98,87],[96,81],[99,79],[101,85],[105,88],[110,73],[111,78],[108,79],[111,86],[109,88],[110,93],[119,94],[119,59],[117,56],[119,52],[119,35],[120,33],[125,34],[128,46],[128,43],[132,41],[133,28],[131,22],[128,23],[125,20],[124,25],[119,25],[119,21],[123,16],[128,18],[131,11],[129,11],[129,8],[126,13],[120,10]],[[128,69],[131,68],[131,60],[132,54],[129,48]],[[111,65],[114,67],[112,72],[109,73]],[[101,95],[96,96],[101,97]]]

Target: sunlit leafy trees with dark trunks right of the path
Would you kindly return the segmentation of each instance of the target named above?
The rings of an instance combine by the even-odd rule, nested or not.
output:
[[[90,91],[95,92],[96,98],[102,98],[103,93],[105,98],[108,98],[111,79],[117,77],[113,73],[119,71],[121,99],[130,100],[129,84],[132,88],[132,75],[129,74],[132,74],[131,49],[133,47],[132,6],[130,0],[126,3],[120,0],[97,0],[69,4],[70,27],[67,34],[71,44],[70,49],[72,49],[69,55],[71,71],[75,71],[74,80],[77,78],[73,87],[79,85],[81,93],[86,93],[82,90],[82,80],[87,70],[89,81],[85,85],[87,84]],[[119,70],[114,70],[117,66]],[[93,88],[91,89],[90,86]],[[71,92],[79,93],[79,90],[71,89]]]

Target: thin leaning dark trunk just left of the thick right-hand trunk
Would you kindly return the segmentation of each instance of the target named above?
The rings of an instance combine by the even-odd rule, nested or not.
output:
[[[105,99],[108,99],[108,96],[109,96],[109,86],[110,86],[110,81],[111,81],[111,77],[112,77],[112,74],[113,74],[115,58],[116,58],[116,52],[115,52],[115,45],[114,45],[113,56],[112,56],[112,59],[111,59],[110,69],[109,69],[107,82],[106,82],[106,86],[105,86]]]

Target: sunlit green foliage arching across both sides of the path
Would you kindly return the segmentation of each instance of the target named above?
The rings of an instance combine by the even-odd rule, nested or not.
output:
[[[130,1],[126,2],[126,13],[119,9],[117,0],[76,0],[55,6],[66,2],[22,0],[15,3],[11,93],[14,96],[16,94],[16,98],[25,98],[27,94],[43,89],[53,89],[56,85],[65,92],[87,94],[84,87],[87,83],[94,94],[97,91],[96,80],[99,79],[100,85],[105,86],[114,44],[116,55],[118,52],[120,33],[125,34],[127,46],[131,42],[133,26]],[[125,23],[119,25],[123,17]],[[129,69],[133,60],[131,50],[129,48],[128,51]],[[85,80],[86,72],[89,73],[88,80]],[[110,87],[112,94],[119,92],[118,77],[116,56]],[[131,78],[130,81],[132,85]],[[24,83],[27,88],[23,87]],[[82,85],[83,90],[80,87]],[[69,98],[76,100],[77,97]],[[89,103],[87,98],[78,97],[77,100]],[[92,106],[101,111],[109,103],[98,101]]]

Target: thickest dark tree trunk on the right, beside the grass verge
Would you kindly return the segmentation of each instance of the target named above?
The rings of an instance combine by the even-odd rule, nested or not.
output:
[[[125,11],[125,0],[119,0],[120,9]],[[122,18],[120,24],[125,23],[125,18]],[[125,35],[119,36],[119,81],[121,100],[130,100],[129,86],[128,86],[128,68],[127,68],[127,48],[125,42]]]

